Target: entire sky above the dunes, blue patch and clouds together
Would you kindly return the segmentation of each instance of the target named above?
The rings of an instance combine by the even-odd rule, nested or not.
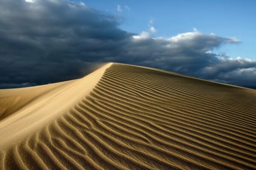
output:
[[[0,88],[121,62],[256,85],[256,1],[0,0]]]

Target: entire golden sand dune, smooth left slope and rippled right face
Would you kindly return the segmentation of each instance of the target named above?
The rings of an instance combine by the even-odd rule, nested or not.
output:
[[[5,169],[256,169],[256,90],[117,63],[0,90]]]

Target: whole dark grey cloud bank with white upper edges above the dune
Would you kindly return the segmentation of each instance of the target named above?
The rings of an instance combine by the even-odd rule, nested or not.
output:
[[[198,31],[152,38],[122,18],[64,0],[0,1],[0,88],[76,79],[91,63],[124,62],[237,85],[256,83],[256,62],[211,51],[235,38]],[[87,71],[88,72],[88,71]]]

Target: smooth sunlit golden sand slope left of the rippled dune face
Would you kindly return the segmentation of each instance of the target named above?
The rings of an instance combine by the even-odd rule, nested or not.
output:
[[[30,88],[0,90],[0,134],[2,144],[26,136],[45,126],[89,94],[112,63],[84,78]],[[3,136],[4,135],[4,136]],[[9,138],[12,142],[9,142]]]

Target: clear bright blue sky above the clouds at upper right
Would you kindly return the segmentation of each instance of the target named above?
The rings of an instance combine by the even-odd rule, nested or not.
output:
[[[153,26],[157,30],[154,36],[172,37],[196,28],[207,34],[236,37],[241,43],[224,45],[216,51],[226,52],[232,57],[256,60],[255,0],[83,0],[82,2],[93,8],[120,15],[123,17],[120,28],[129,32],[150,31],[150,27]],[[118,5],[122,11],[117,10]]]

